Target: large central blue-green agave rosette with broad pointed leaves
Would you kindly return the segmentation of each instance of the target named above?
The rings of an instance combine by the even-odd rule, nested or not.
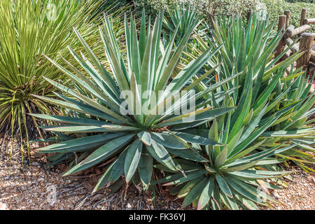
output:
[[[185,69],[172,79],[172,72],[197,19],[191,23],[179,45],[174,48],[174,38],[179,29],[177,26],[171,41],[164,48],[160,45],[162,18],[163,15],[159,15],[151,29],[150,24],[146,27],[146,16],[143,12],[139,37],[134,18],[130,18],[130,25],[125,18],[124,55],[127,55],[127,59],[124,59],[114,36],[111,20],[105,16],[104,26],[99,28],[99,33],[104,42],[106,59],[110,64],[109,71],[104,69],[76,29],[74,31],[92,62],[83,54],[79,56],[69,47],[71,55],[81,66],[81,69],[77,69],[67,63],[73,71],[71,73],[47,57],[83,90],[83,92],[76,91],[62,83],[45,78],[48,83],[71,95],[72,98],[62,94],[57,94],[62,100],[36,96],[45,102],[84,115],[84,117],[69,117],[33,114],[37,118],[53,120],[61,124],[44,127],[45,130],[86,134],[84,137],[81,135],[39,149],[40,153],[57,153],[52,159],[54,162],[66,160],[69,154],[80,153],[78,164],[70,167],[64,175],[74,174],[113,159],[95,190],[107,183],[121,182],[123,174],[127,183],[134,176],[139,176],[146,189],[152,179],[153,159],[174,172],[183,171],[183,168],[174,162],[173,156],[183,158],[197,156],[195,159],[202,160],[196,153],[195,144],[204,146],[218,144],[216,141],[197,135],[181,131],[171,132],[169,128],[190,129],[235,109],[233,106],[212,109],[211,106],[200,104],[190,106],[188,112],[181,111],[178,114],[175,112],[183,105],[190,105],[190,99],[193,99],[192,94],[195,92],[194,87],[203,79],[190,82],[191,78],[216,54],[220,46],[215,48],[215,45],[211,45],[201,57],[187,64]],[[88,74],[88,78],[82,73],[83,70]],[[195,99],[204,99],[204,95],[235,77],[237,75],[207,87],[204,92],[196,94]],[[158,111],[163,105],[165,110]]]

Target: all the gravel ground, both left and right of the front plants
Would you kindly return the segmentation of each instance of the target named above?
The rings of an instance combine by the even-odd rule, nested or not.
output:
[[[16,142],[13,146],[12,160],[10,141],[0,148],[0,209],[181,209],[182,201],[169,195],[167,189],[158,190],[156,203],[134,186],[117,193],[92,193],[97,176],[62,177],[59,173],[64,167],[48,169],[43,166],[45,156],[36,153],[31,153],[31,167],[25,161],[23,172],[20,146]],[[272,209],[315,209],[314,175],[297,172],[288,183],[288,188],[272,192],[283,202],[273,204]]]

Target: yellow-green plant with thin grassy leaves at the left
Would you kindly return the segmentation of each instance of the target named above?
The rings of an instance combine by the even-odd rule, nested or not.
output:
[[[96,6],[96,1],[0,0],[0,131],[20,135],[22,154],[22,139],[29,150],[29,139],[38,136],[37,123],[27,113],[59,113],[31,95],[51,97],[56,90],[43,74],[52,80],[62,78],[43,55],[61,62],[57,55],[67,44],[79,50],[72,26],[91,40],[94,29],[87,24],[92,22],[87,15]]]

